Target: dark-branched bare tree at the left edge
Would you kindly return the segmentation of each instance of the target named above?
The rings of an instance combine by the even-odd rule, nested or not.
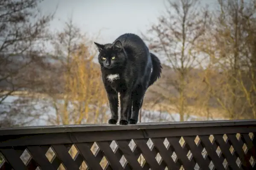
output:
[[[39,69],[47,67],[43,45],[53,14],[41,15],[40,2],[0,2],[0,126],[24,125],[35,116],[23,109],[29,106],[27,99],[21,101],[9,96],[42,86],[35,77]],[[24,104],[22,107],[18,107],[20,102]]]

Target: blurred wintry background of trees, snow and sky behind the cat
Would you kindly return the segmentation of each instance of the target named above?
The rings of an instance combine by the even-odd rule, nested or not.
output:
[[[256,119],[256,0],[1,0],[0,127],[106,123],[93,42],[163,64],[141,122]]]

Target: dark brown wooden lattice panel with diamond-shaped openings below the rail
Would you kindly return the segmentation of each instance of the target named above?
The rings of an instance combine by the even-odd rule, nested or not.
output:
[[[256,168],[255,133],[0,148],[0,170]]]

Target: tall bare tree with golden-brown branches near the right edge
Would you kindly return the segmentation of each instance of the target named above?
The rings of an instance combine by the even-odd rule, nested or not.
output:
[[[255,113],[253,71],[250,69],[252,49],[255,48],[251,39],[254,33],[250,27],[255,23],[255,0],[218,0],[218,5],[214,25],[198,47],[209,56],[208,70],[214,70],[216,75],[215,82],[209,74],[205,79],[211,88],[211,96],[230,119],[238,119],[243,117],[248,107]],[[245,82],[246,79],[250,79],[250,83]]]

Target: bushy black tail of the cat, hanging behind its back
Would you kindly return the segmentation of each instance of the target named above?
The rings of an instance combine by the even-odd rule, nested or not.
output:
[[[152,64],[153,64],[153,71],[149,80],[149,84],[148,87],[150,85],[152,85],[158,78],[161,77],[161,73],[162,73],[162,65],[161,62],[159,60],[159,58],[157,58],[157,56],[155,56],[154,54],[150,53],[151,56],[151,60],[152,60]]]

